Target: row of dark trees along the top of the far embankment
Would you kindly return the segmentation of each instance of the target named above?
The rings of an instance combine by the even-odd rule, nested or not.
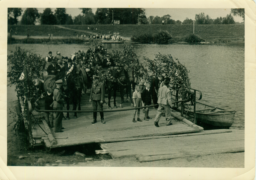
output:
[[[93,14],[91,8],[79,8],[81,14],[72,17],[68,15],[65,8],[56,8],[53,12],[51,8],[44,9],[39,13],[36,8],[26,8],[21,24],[35,25],[36,22],[41,25],[85,25],[85,24],[193,24],[193,20],[188,17],[181,22],[172,20],[171,15],[145,16],[145,9],[142,8],[97,8]],[[8,24],[16,25],[17,18],[21,16],[21,8],[8,8]],[[209,15],[203,12],[195,15],[195,24],[234,24],[232,15],[244,18],[244,9],[231,9],[231,13],[226,17],[217,17],[211,19]]]

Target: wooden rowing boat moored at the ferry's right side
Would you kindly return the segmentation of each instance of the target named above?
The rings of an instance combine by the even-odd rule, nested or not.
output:
[[[195,118],[198,122],[203,122],[212,126],[229,128],[235,118],[236,111],[224,110],[218,107],[195,102]],[[194,117],[194,106],[185,105],[184,116]]]

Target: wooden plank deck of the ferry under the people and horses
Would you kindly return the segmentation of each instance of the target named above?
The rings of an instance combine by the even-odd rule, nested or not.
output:
[[[87,92],[82,97],[81,110],[92,110],[92,105],[89,102],[90,92]],[[120,102],[120,98],[117,95],[117,102]],[[107,96],[106,99],[107,101]],[[117,103],[119,105],[119,103]],[[118,109],[129,109],[131,103],[123,103],[124,107]],[[113,99],[111,101],[113,107]],[[41,103],[43,109],[43,104]],[[72,105],[70,110],[72,110]],[[64,108],[65,109],[65,108]],[[103,110],[108,110],[108,105],[103,105]],[[113,109],[114,110],[114,109]],[[47,135],[42,129],[35,125],[32,131],[34,139],[40,139],[44,137],[44,142],[49,148],[57,148],[63,146],[81,145],[88,143],[100,143],[100,142],[118,142],[125,141],[131,138],[145,138],[148,136],[165,136],[173,134],[185,134],[195,133],[203,131],[203,128],[192,128],[189,125],[175,119],[173,117],[171,126],[165,125],[165,118],[160,119],[160,127],[154,126],[154,117],[157,110],[151,108],[149,116],[152,117],[149,121],[144,121],[144,113],[140,111],[140,119],[143,122],[132,122],[134,110],[126,110],[119,112],[106,112],[104,113],[104,119],[106,124],[102,124],[100,121],[100,115],[98,113],[97,123],[92,124],[93,113],[78,113],[77,119],[73,118],[73,113],[70,113],[70,120],[63,120],[62,124],[65,128],[62,133],[54,133],[52,129],[52,135],[56,139],[57,145],[51,145]],[[64,113],[66,116],[66,113]],[[137,115],[136,115],[137,118]],[[44,125],[41,127],[45,130]]]

